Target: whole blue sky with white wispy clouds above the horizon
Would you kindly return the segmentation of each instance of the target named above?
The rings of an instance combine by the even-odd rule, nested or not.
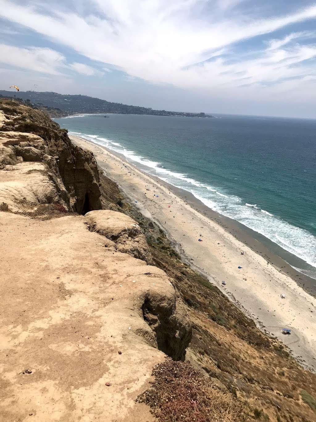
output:
[[[0,89],[316,118],[316,2],[0,0]]]

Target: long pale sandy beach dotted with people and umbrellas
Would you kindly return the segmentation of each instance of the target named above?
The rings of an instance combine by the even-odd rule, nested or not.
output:
[[[316,299],[309,294],[314,294],[311,279],[271,257],[268,249],[242,233],[238,225],[233,233],[225,219],[199,207],[187,192],[179,195],[176,188],[102,146],[77,136],[70,138],[94,153],[104,173],[143,214],[161,224],[191,265],[201,269],[258,327],[289,346],[305,367],[316,370]],[[283,327],[291,329],[291,335],[281,334]]]

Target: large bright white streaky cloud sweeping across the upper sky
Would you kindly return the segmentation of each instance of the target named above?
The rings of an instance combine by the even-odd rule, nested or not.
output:
[[[314,84],[315,45],[305,43],[313,34],[288,31],[279,39],[271,34],[315,19],[316,5],[283,15],[274,8],[273,16],[262,17],[260,8],[246,8],[247,3],[87,0],[83,8],[81,2],[61,7],[56,1],[34,0],[22,7],[0,0],[0,16],[90,60],[120,68],[129,80],[141,78],[221,97],[268,98],[287,89],[293,97],[303,98]],[[253,49],[249,42],[236,52],[236,43],[263,35],[265,43],[257,42]],[[96,74],[81,63],[70,68]]]

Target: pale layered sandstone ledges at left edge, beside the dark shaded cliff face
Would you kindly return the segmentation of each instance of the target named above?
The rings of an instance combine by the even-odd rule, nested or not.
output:
[[[40,204],[69,208],[69,195],[43,139],[29,133],[0,132],[0,202],[11,211]]]

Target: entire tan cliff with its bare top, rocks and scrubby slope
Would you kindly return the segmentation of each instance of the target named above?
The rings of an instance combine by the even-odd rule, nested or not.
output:
[[[67,131],[8,100],[0,245],[0,421],[316,420],[316,376]]]

